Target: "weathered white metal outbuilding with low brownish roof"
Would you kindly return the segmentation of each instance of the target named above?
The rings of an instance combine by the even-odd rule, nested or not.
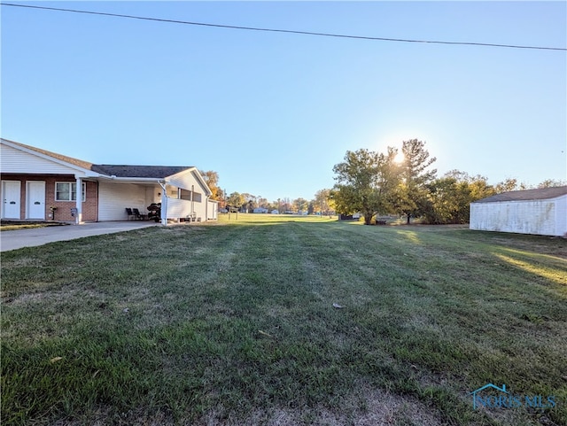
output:
[[[470,229],[567,236],[567,186],[513,190],[470,203]]]

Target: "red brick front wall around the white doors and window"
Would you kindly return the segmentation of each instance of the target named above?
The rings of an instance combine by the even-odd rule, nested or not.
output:
[[[76,206],[75,201],[55,201],[55,182],[77,182],[74,176],[68,175],[27,175],[27,174],[2,174],[2,180],[19,181],[20,200],[19,217],[26,218],[26,182],[42,181],[45,182],[45,220],[51,221],[50,207],[57,207],[55,211],[55,221],[74,221],[71,216],[71,208]],[[87,182],[87,194],[85,201],[82,202],[82,221],[98,221],[98,182]]]

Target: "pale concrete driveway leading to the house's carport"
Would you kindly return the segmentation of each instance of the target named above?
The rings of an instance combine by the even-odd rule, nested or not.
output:
[[[109,221],[2,231],[0,232],[0,252],[48,244],[55,241],[74,240],[83,236],[99,236],[155,226],[160,225],[154,221]]]

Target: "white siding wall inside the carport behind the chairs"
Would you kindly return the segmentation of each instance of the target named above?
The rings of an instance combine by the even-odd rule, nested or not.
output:
[[[126,221],[126,207],[148,213],[148,205],[159,203],[157,189],[136,183],[100,182],[98,186],[98,220]]]

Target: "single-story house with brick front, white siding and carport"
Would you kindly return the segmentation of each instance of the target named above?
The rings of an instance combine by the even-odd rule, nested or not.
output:
[[[6,220],[126,221],[127,208],[147,215],[151,203],[161,203],[164,225],[217,219],[218,203],[196,167],[92,164],[7,139],[0,139],[0,167]]]

